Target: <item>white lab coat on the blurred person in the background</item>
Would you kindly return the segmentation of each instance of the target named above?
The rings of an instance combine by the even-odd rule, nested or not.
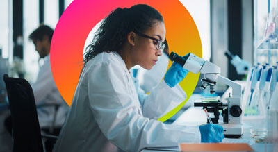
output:
[[[40,67],[37,81],[31,86],[33,88],[36,105],[49,103],[57,103],[61,105],[56,114],[56,123],[54,125],[61,127],[63,126],[65,117],[67,117],[69,106],[65,103],[56,87],[51,72],[49,56],[50,54],[44,57],[44,64]],[[38,108],[37,111],[40,127],[44,128],[51,126],[54,119],[54,107]]]

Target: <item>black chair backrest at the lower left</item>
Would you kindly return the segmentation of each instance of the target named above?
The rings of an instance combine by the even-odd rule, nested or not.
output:
[[[3,76],[13,123],[13,151],[43,151],[31,85],[24,78]]]

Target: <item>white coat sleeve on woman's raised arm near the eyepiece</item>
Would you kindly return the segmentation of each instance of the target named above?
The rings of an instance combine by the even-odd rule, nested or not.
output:
[[[142,103],[142,112],[144,117],[158,119],[176,108],[184,100],[186,100],[186,92],[179,85],[169,87],[163,79],[161,83],[152,88],[145,98]]]

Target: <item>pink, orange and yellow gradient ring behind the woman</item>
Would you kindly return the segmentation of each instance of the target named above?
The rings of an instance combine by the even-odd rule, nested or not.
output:
[[[68,105],[72,103],[79,81],[83,67],[83,47],[92,28],[115,8],[130,8],[139,3],[152,6],[163,15],[170,52],[174,51],[180,56],[191,52],[202,57],[202,44],[195,22],[178,0],[74,0],[56,25],[50,54],[54,81]],[[172,62],[168,68],[170,65]],[[189,73],[179,83],[187,94],[186,101],[193,93],[198,78],[199,74]],[[165,121],[172,117],[186,101],[158,120]]]

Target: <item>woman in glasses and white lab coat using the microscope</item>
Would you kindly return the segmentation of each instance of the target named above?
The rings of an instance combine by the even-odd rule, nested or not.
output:
[[[136,5],[113,10],[101,24],[88,53],[74,99],[54,151],[140,151],[179,142],[221,142],[222,128],[172,126],[159,117],[186,99],[177,85],[187,72],[173,64],[142,103],[129,72],[152,69],[165,40],[163,17]],[[200,135],[201,134],[201,135]],[[111,144],[112,143],[112,144]]]

